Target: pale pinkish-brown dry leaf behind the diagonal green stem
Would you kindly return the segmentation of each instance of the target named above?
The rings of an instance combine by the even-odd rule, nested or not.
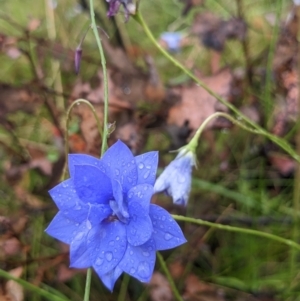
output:
[[[229,99],[232,79],[230,70],[224,69],[214,76],[202,78],[202,81],[215,93],[224,99]],[[227,111],[226,107],[221,105],[216,98],[196,84],[183,87],[180,92],[182,95],[181,102],[169,111],[167,120],[169,125],[182,127],[188,121],[189,127],[195,131],[217,109]],[[210,123],[210,126],[212,124],[213,122]]]

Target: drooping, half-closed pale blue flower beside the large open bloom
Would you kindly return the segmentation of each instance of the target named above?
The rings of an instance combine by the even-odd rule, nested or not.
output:
[[[192,167],[195,165],[194,153],[182,149],[154,185],[154,193],[165,191],[173,198],[173,203],[187,205],[191,190]]]

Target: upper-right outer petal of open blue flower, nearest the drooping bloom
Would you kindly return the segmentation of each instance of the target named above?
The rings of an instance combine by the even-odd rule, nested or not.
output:
[[[154,185],[158,164],[158,152],[148,152],[135,157],[138,167],[138,183]]]

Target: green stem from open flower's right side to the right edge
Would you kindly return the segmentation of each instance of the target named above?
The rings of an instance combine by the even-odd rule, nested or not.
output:
[[[280,236],[277,236],[277,235],[274,235],[271,233],[266,233],[266,232],[262,232],[259,230],[253,230],[253,229],[245,229],[245,228],[233,227],[233,226],[228,226],[228,225],[216,224],[216,223],[204,221],[202,219],[195,219],[192,217],[185,217],[185,216],[181,216],[181,215],[172,215],[172,216],[175,220],[178,220],[178,221],[184,221],[184,222],[189,222],[189,223],[193,223],[193,224],[197,224],[197,225],[201,225],[201,226],[217,228],[217,229],[224,230],[224,231],[238,232],[238,233],[255,235],[255,236],[259,236],[259,237],[263,237],[263,238],[267,238],[267,239],[272,239],[272,240],[286,244],[286,245],[293,247],[293,248],[297,249],[298,251],[300,251],[300,245],[297,244],[296,242],[289,240],[289,239],[282,238]]]

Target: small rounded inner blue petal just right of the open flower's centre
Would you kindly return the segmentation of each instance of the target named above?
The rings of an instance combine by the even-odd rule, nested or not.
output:
[[[152,235],[152,222],[147,211],[137,202],[128,204],[130,221],[126,227],[127,240],[133,246],[144,244]]]

